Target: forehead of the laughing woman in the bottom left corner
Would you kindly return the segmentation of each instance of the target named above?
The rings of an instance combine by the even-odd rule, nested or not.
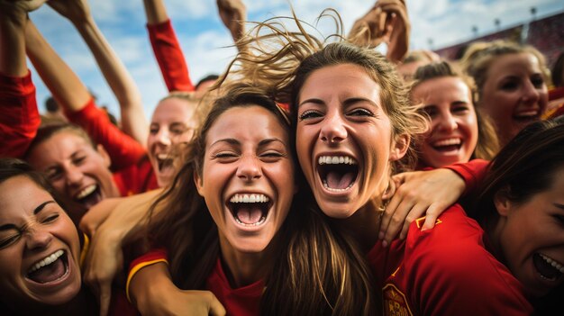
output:
[[[0,222],[30,215],[53,197],[27,176],[14,176],[0,184]]]

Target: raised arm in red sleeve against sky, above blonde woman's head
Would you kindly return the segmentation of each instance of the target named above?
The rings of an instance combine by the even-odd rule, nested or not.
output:
[[[150,44],[168,91],[194,91],[184,53],[163,0],[143,0]]]

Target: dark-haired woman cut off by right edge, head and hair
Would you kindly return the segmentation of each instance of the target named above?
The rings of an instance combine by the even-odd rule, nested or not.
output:
[[[562,311],[564,119],[535,122],[492,160],[474,213],[539,312]],[[559,292],[557,292],[559,291]],[[552,301],[547,302],[547,296]],[[562,296],[559,296],[560,298]]]

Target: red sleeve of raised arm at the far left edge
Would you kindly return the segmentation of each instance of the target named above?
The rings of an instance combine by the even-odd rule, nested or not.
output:
[[[0,157],[22,158],[41,123],[32,73],[0,74]]]

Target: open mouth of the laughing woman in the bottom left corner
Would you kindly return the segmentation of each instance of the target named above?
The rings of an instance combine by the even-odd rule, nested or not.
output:
[[[33,264],[26,276],[35,283],[49,284],[59,281],[66,275],[68,275],[67,253],[57,250]]]

